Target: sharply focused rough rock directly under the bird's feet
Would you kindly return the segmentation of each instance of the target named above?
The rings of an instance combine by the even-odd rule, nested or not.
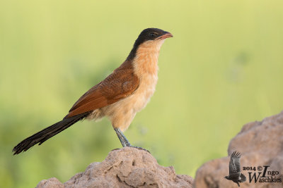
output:
[[[110,151],[100,163],[91,163],[64,184],[56,178],[42,180],[37,188],[67,187],[192,187],[192,177],[176,175],[174,168],[158,165],[144,150],[125,147]]]

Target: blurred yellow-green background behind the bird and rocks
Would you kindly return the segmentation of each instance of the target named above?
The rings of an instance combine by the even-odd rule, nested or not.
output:
[[[195,176],[226,156],[243,124],[282,111],[283,1],[0,1],[0,187],[66,182],[120,147],[110,122],[84,121],[12,156],[62,120],[127,57],[139,32],[171,32],[148,106],[125,132],[161,165]]]

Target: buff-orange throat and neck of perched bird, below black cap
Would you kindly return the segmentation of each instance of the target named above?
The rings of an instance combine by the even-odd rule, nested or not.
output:
[[[158,56],[163,40],[140,44],[133,58],[134,73],[139,78],[158,73]]]

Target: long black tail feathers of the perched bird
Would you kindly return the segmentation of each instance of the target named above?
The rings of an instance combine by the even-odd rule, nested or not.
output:
[[[22,151],[27,151],[31,146],[34,146],[37,143],[42,144],[47,139],[50,139],[59,132],[66,130],[68,127],[78,122],[79,120],[83,120],[83,118],[86,118],[86,116],[88,116],[90,113],[91,112],[86,112],[79,115],[74,115],[70,118],[64,118],[62,121],[59,121],[58,123],[55,123],[54,125],[51,125],[50,127],[47,127],[44,130],[33,134],[32,136],[18,143],[18,145],[13,148],[13,154],[16,155],[18,153],[21,153]]]

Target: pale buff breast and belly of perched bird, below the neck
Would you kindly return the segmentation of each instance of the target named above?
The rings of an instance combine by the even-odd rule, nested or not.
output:
[[[103,113],[110,118],[114,128],[125,131],[137,112],[146,106],[155,92],[157,75],[143,77],[137,90],[125,99],[103,108]]]

